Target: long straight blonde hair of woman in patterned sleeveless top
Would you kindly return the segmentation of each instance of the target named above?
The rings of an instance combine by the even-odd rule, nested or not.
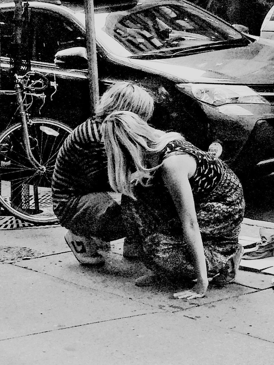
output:
[[[184,140],[176,132],[164,132],[149,126],[130,111],[115,111],[102,123],[102,135],[108,160],[111,188],[134,198],[132,176],[136,183],[149,185],[161,163],[149,166],[146,158],[157,154],[171,141]]]

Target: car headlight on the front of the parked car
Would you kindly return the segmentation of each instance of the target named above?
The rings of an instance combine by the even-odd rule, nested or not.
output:
[[[204,103],[220,106],[224,104],[269,104],[254,90],[244,85],[177,84],[179,89],[190,93]]]

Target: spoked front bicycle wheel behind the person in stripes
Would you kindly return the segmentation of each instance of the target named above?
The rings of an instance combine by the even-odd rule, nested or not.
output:
[[[0,134],[0,205],[26,222],[53,224],[52,175],[57,154],[71,128],[50,119],[33,119],[28,126],[35,159],[45,172],[39,172],[27,158],[22,126],[14,124]]]

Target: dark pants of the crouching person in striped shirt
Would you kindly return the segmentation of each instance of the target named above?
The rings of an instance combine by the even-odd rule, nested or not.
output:
[[[118,204],[107,192],[90,193],[75,199],[59,218],[60,223],[72,233],[91,241],[99,238],[110,242],[125,237],[123,254],[140,257],[142,241],[135,224],[128,219],[131,200],[122,196],[121,204]]]

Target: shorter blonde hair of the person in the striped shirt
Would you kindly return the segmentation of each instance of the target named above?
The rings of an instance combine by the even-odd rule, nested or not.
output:
[[[154,100],[139,85],[130,81],[118,81],[103,93],[96,108],[96,116],[103,119],[115,110],[129,110],[148,121],[154,110]]]

